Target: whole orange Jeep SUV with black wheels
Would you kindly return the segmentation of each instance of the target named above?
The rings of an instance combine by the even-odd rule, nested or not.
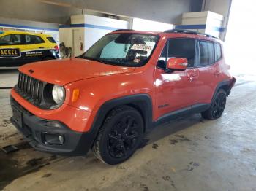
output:
[[[207,34],[117,30],[78,58],[21,66],[12,123],[39,151],[118,164],[151,128],[187,114],[215,120],[236,82]]]

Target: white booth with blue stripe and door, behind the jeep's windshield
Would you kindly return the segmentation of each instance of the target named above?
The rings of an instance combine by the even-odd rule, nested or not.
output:
[[[74,55],[80,55],[102,36],[116,29],[129,28],[126,20],[117,20],[94,15],[73,15],[71,25],[60,26],[60,41],[72,47]]]

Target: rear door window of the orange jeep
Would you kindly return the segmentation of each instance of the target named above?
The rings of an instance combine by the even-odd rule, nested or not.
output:
[[[200,66],[208,66],[214,63],[214,43],[199,41]]]

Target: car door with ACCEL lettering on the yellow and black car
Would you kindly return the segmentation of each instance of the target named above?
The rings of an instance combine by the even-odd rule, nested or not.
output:
[[[0,37],[0,66],[20,66],[23,63],[21,55],[23,36],[7,34]]]

